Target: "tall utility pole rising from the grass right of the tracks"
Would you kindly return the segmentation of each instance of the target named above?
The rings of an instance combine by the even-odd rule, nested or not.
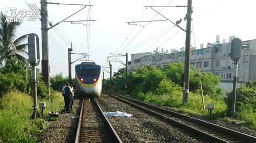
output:
[[[187,28],[186,28],[186,51],[184,64],[184,91],[183,104],[187,103],[188,94],[190,92],[190,33],[191,33],[191,15],[192,15],[192,0],[187,1]]]

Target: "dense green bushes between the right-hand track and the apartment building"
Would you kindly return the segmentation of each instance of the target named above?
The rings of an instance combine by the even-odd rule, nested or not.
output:
[[[137,95],[139,91],[144,94],[152,92],[154,94],[170,93],[183,87],[181,75],[184,73],[184,63],[170,63],[163,69],[156,69],[153,66],[142,66],[134,69],[128,74],[127,94]],[[164,81],[163,81],[164,80]],[[204,95],[212,97],[220,97],[222,90],[217,87],[220,83],[220,77],[214,76],[212,73],[200,73],[191,66],[190,69],[190,91],[197,92],[203,84]],[[124,68],[114,74],[112,79],[105,80],[104,89],[111,91],[124,91],[125,72]],[[111,85],[111,86],[110,86]],[[160,87],[159,87],[160,86]]]

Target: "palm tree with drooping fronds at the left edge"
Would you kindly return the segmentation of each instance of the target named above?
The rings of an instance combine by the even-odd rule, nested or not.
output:
[[[28,55],[26,45],[22,42],[28,37],[28,34],[15,39],[17,27],[21,25],[18,22],[5,22],[6,16],[1,12],[0,15],[0,65],[4,59],[12,57],[16,59],[25,59],[23,55]]]

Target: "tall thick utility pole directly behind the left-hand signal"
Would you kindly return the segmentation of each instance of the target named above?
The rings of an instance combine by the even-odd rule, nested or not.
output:
[[[41,0],[41,32],[42,32],[42,75],[43,75],[43,80],[46,83],[49,90],[48,94],[50,95],[47,0]]]

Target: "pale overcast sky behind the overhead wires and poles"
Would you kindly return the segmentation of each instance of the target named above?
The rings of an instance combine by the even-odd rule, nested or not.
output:
[[[35,2],[40,9],[39,0],[26,0],[27,3]],[[48,0],[48,2],[89,4],[89,0]],[[96,22],[90,23],[90,60],[97,64],[107,66],[107,55],[110,53],[129,53],[152,52],[153,49],[172,48],[179,49],[185,47],[185,32],[178,27],[173,27],[169,21],[137,23],[142,26],[128,25],[126,22],[142,20],[161,20],[165,19],[160,15],[156,16],[150,8],[144,5],[186,5],[186,0],[91,0],[91,19]],[[215,42],[216,35],[220,35],[220,41],[230,36],[238,37],[242,40],[256,38],[256,20],[254,0],[194,0],[192,1],[193,13],[191,33],[191,45],[200,48],[203,43]],[[0,10],[6,8],[28,9],[23,0],[0,0]],[[71,5],[48,5],[49,21],[56,24],[60,20],[68,17],[72,13],[82,8],[82,6]],[[161,11],[165,17],[173,22],[184,19],[186,8],[154,8]],[[67,20],[87,20],[88,8],[80,11]],[[84,22],[86,24],[86,22]],[[87,23],[89,24],[89,23]],[[186,22],[181,22],[180,26],[186,29]],[[144,26],[144,27],[143,27]],[[87,30],[89,26],[87,25]],[[89,32],[89,31],[88,31]],[[17,37],[36,33],[41,38],[41,21],[28,22],[26,18],[18,28]],[[194,37],[193,37],[194,35]],[[57,44],[56,44],[57,42]],[[68,76],[68,48],[70,42],[73,44],[74,53],[88,53],[87,51],[87,32],[86,26],[81,24],[60,23],[55,28],[49,30],[49,61],[50,75],[63,73]],[[41,43],[41,39],[40,39]],[[42,56],[41,56],[42,57]],[[72,55],[72,61],[78,56]],[[125,58],[121,58],[125,61]],[[74,66],[80,63],[75,62],[72,67],[74,77]],[[113,63],[113,71],[123,66]],[[41,65],[39,65],[41,68]],[[109,77],[109,74],[105,74]]]

